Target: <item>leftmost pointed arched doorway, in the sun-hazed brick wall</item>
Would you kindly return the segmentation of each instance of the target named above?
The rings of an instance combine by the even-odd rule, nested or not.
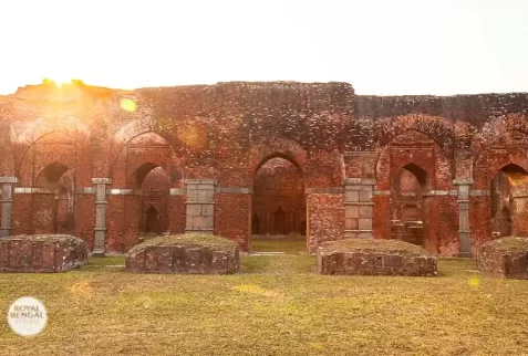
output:
[[[32,233],[73,233],[74,188],[73,171],[61,163],[49,164],[37,175]]]

